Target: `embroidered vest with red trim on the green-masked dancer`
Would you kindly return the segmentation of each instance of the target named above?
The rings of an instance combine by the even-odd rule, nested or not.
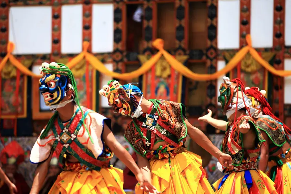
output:
[[[257,141],[255,142],[256,149],[244,149],[242,147],[243,134],[239,132],[238,128],[246,118],[253,125],[257,135]],[[241,163],[256,162],[259,157],[260,145],[265,140],[254,123],[255,121],[253,118],[246,115],[239,117],[235,124],[230,122],[228,123],[227,130],[221,144],[221,152],[231,156],[233,159],[232,165],[234,166],[239,166]]]

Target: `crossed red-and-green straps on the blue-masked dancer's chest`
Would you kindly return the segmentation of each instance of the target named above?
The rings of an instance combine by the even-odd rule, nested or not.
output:
[[[84,107],[82,108],[82,111],[84,113],[84,118],[86,118],[88,113],[91,112],[91,110]],[[77,135],[82,125],[82,113],[79,108],[66,126],[63,126],[63,123],[59,118],[55,120],[52,131],[56,140],[52,147],[58,156],[59,162],[63,165],[64,154],[68,152],[80,163],[93,170],[100,170],[104,165],[110,166],[109,161],[101,161],[99,160],[99,157],[96,159],[94,154],[79,142]]]

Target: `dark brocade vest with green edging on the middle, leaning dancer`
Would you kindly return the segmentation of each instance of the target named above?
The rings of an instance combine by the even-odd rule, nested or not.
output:
[[[155,105],[146,114],[133,118],[135,128],[142,133],[143,145],[146,150],[152,150],[155,144],[155,134],[174,147],[179,147],[180,141],[185,141],[187,127],[183,119],[184,105],[171,101],[160,101],[159,112]]]

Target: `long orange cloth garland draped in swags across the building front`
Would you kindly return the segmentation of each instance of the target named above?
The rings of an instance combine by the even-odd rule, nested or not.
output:
[[[105,65],[100,62],[93,54],[88,53],[88,47],[89,47],[89,42],[83,42],[83,51],[78,54],[76,57],[74,57],[70,62],[68,62],[66,65],[71,69],[75,65],[81,62],[81,60],[85,59],[99,72],[106,74],[108,76],[121,79],[121,80],[130,80],[136,77],[141,76],[142,74],[145,74],[148,72],[153,65],[155,65],[159,58],[161,56],[164,56],[165,59],[168,61],[168,63],[173,67],[174,70],[182,74],[183,76],[193,79],[193,80],[198,80],[198,81],[208,81],[208,80],[214,80],[218,79],[222,75],[225,75],[226,73],[230,72],[233,68],[237,66],[237,64],[244,58],[244,56],[250,52],[251,56],[258,62],[260,63],[263,67],[265,67],[266,70],[271,72],[274,75],[285,77],[285,76],[290,76],[291,71],[286,71],[286,70],[276,70],[272,65],[270,65],[266,60],[264,60],[258,52],[252,47],[251,44],[251,36],[248,34],[246,35],[246,41],[247,41],[247,46],[242,48],[235,54],[235,56],[228,62],[228,64],[222,69],[219,70],[213,74],[197,74],[189,70],[187,67],[185,67],[182,63],[180,63],[177,59],[175,59],[171,54],[169,54],[166,50],[164,50],[164,41],[162,39],[157,39],[155,40],[152,45],[159,50],[157,54],[152,56],[148,61],[143,63],[143,65],[129,73],[116,73],[108,70]],[[40,78],[41,75],[34,74],[31,72],[27,67],[22,65],[11,53],[14,50],[15,45],[13,42],[8,43],[7,47],[7,55],[3,58],[3,60],[0,62],[0,72],[3,69],[4,65],[6,64],[7,60],[10,60],[10,63],[14,65],[16,68],[18,68],[23,74],[26,74],[31,77],[36,77]]]

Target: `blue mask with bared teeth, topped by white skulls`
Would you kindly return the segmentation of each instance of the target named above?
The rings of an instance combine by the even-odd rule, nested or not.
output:
[[[72,90],[74,95],[74,88],[67,76],[68,70],[68,67],[61,63],[42,63],[39,90],[47,106],[59,104],[68,90]]]

